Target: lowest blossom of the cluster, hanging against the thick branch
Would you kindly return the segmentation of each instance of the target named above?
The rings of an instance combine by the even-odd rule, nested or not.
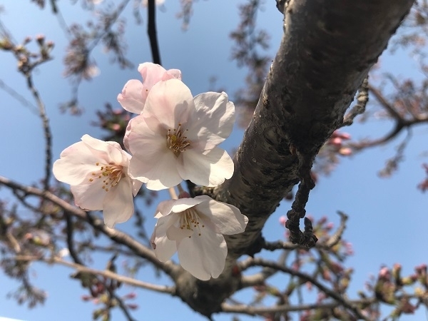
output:
[[[207,195],[165,200],[156,210],[152,248],[161,262],[177,251],[180,265],[200,280],[218,277],[228,247],[223,235],[243,233],[248,218],[235,206]]]

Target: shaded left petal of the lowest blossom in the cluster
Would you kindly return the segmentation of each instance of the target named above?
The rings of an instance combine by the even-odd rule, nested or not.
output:
[[[177,251],[175,241],[169,240],[166,236],[168,220],[170,220],[169,216],[159,218],[155,230],[153,230],[153,235],[151,236],[152,248],[155,251],[156,258],[161,262],[168,261]]]

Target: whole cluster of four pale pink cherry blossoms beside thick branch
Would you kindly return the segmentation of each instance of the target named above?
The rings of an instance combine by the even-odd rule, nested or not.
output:
[[[233,129],[235,107],[226,93],[193,97],[178,69],[154,63],[138,66],[118,95],[129,121],[123,151],[115,142],[84,135],[54,163],[54,175],[71,185],[75,203],[103,210],[109,228],[133,215],[133,196],[143,183],[151,190],[174,188],[182,180],[217,186],[233,175],[233,161],[218,148]],[[131,156],[132,155],[132,156]],[[233,205],[202,195],[165,200],[156,210],[151,243],[162,262],[178,252],[180,265],[200,280],[218,277],[228,248],[223,235],[242,233],[248,218]]]

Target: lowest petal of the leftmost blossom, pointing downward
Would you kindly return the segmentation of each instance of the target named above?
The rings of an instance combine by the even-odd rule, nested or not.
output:
[[[106,193],[103,202],[104,223],[113,228],[116,223],[126,222],[134,213],[132,184],[128,177]]]

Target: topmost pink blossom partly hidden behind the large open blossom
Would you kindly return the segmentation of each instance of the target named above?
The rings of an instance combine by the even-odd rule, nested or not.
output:
[[[146,103],[148,93],[155,83],[172,78],[181,79],[181,71],[178,69],[165,70],[156,63],[141,63],[138,72],[143,77],[143,83],[137,79],[131,79],[118,94],[118,102],[131,113],[141,113]]]

